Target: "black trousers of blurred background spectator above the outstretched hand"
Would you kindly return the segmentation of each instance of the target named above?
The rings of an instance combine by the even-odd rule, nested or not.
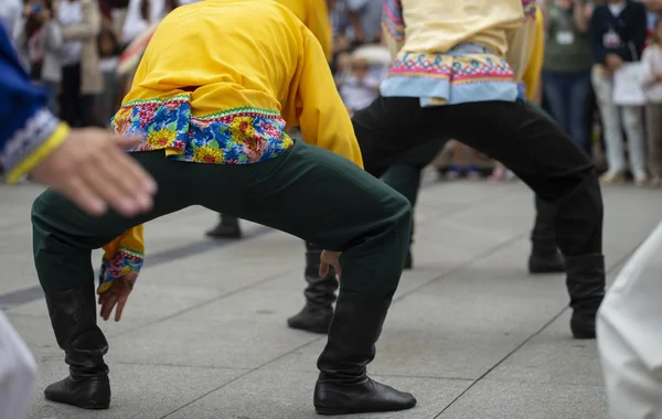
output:
[[[62,67],[60,118],[71,127],[92,127],[94,95],[81,94],[81,64]]]

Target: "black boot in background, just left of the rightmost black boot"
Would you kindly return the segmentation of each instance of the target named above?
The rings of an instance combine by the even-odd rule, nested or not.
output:
[[[556,246],[556,228],[553,221],[536,215],[531,232],[531,255],[528,272],[558,273],[565,272],[565,262]]]

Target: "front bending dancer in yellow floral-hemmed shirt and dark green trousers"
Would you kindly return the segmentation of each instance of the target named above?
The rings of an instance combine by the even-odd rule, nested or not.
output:
[[[286,123],[299,125],[319,147],[292,141]],[[318,359],[318,412],[416,404],[410,394],[366,375],[402,273],[412,208],[361,170],[322,47],[292,12],[270,0],[175,9],[150,41],[113,125],[119,133],[146,136],[132,155],[157,180],[159,193],[150,213],[130,219],[94,219],[51,191],[34,202],[36,271],[71,373],[46,388],[49,399],[93,409],[110,402],[92,249],[132,226],[203,205],[334,250],[322,255],[342,267],[342,289]]]

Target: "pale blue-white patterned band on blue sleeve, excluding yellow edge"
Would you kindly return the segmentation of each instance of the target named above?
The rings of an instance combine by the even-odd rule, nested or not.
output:
[[[34,112],[4,146],[0,155],[4,170],[11,172],[51,137],[58,125],[60,120],[47,108]]]

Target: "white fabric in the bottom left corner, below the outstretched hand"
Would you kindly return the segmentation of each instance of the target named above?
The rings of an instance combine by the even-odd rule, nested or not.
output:
[[[0,419],[23,419],[32,401],[36,363],[0,312]]]

